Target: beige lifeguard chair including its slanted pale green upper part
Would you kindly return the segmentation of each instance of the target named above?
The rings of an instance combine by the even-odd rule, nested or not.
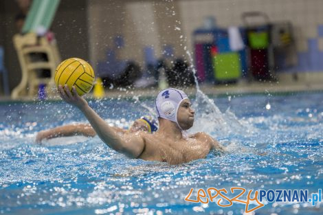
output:
[[[12,91],[12,98],[16,99],[22,95],[35,95],[40,84],[46,84],[47,94],[54,85],[54,73],[56,66],[60,63],[60,55],[56,41],[48,41],[45,32],[49,31],[60,0],[34,0],[23,25],[22,33],[14,35],[14,47],[18,54],[21,66],[22,78],[19,85]],[[40,34],[40,32],[43,32]],[[46,55],[47,60],[32,59],[32,56]],[[36,61],[35,61],[36,60]],[[48,69],[49,78],[39,78],[37,71]]]

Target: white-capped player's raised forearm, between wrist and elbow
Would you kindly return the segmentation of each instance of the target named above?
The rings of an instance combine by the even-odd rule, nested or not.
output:
[[[94,131],[96,131],[96,134],[105,144],[118,152],[122,152],[124,150],[122,139],[115,129],[102,120],[102,118],[93,111],[88,104],[80,106],[79,109],[84,113],[85,117],[87,117],[87,120],[89,120]]]

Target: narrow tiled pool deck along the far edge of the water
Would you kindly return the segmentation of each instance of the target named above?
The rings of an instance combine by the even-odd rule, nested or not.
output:
[[[181,88],[180,88],[181,89]],[[302,91],[322,91],[323,73],[303,73],[296,77],[291,73],[282,73],[278,81],[273,82],[248,82],[240,80],[236,84],[200,84],[200,89],[209,95],[243,95],[250,93],[293,93]],[[183,89],[188,95],[194,95],[196,87]],[[104,98],[133,98],[134,96],[151,97],[157,95],[158,88],[148,89],[106,89]],[[89,93],[86,98],[93,99]],[[36,97],[23,97],[19,101],[35,101]],[[49,96],[49,100],[60,100],[56,96]],[[9,96],[0,96],[0,102],[13,101]]]

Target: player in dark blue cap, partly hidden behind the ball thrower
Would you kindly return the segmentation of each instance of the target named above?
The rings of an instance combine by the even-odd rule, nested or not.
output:
[[[157,131],[158,126],[153,117],[145,115],[143,117],[140,117],[140,119],[135,120],[135,122],[133,122],[133,124],[130,126],[129,130],[115,126],[111,126],[111,128],[113,128],[120,134],[134,133],[137,131],[154,133],[155,131]],[[94,131],[91,124],[69,124],[38,132],[36,135],[36,142],[41,143],[43,139],[52,139],[55,137],[70,137],[74,135],[94,137],[96,136],[96,131]]]

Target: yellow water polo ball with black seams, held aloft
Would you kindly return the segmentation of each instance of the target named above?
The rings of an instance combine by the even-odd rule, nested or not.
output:
[[[71,88],[75,86],[78,95],[84,95],[91,91],[95,76],[94,71],[87,61],[80,58],[68,58],[56,67],[55,84],[65,84]]]

